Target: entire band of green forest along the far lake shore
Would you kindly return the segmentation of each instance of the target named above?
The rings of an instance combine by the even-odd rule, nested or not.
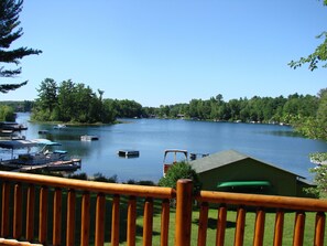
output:
[[[35,121],[111,124],[117,118],[184,118],[298,126],[301,121],[314,119],[325,110],[326,92],[321,89],[317,96],[296,93],[287,97],[254,96],[228,101],[218,94],[209,99],[143,107],[131,99],[103,98],[103,90],[95,92],[72,79],[58,84],[53,78],[45,78],[37,88],[39,97],[34,101],[2,101],[0,120],[8,120],[6,116],[14,110],[31,111],[31,119]]]

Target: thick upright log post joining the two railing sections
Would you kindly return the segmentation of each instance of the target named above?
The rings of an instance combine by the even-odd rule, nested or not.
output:
[[[175,245],[189,246],[193,201],[192,180],[178,180],[176,190]]]

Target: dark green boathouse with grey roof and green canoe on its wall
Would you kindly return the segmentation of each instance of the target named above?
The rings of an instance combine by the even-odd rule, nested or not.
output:
[[[199,174],[203,190],[310,196],[305,178],[235,150],[214,153],[189,162]]]

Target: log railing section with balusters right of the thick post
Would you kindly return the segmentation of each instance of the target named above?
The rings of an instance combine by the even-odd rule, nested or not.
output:
[[[225,245],[228,206],[237,207],[237,221],[233,245],[243,245],[247,206],[257,208],[253,245],[262,246],[264,238],[265,210],[275,208],[273,245],[281,246],[283,239],[285,211],[296,211],[293,246],[304,245],[304,225],[306,212],[316,213],[315,237],[313,245],[323,246],[326,231],[327,201],[275,195],[239,194],[201,191],[195,200],[200,204],[198,246],[206,245],[208,204],[219,204],[217,217],[216,245]]]

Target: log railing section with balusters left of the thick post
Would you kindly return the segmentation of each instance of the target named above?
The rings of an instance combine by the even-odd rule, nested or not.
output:
[[[75,245],[76,220],[80,216],[80,245],[90,244],[90,224],[95,221],[95,245],[105,244],[106,195],[112,196],[110,242],[116,246],[120,243],[121,200],[128,200],[127,242],[135,245],[137,234],[137,197],[144,199],[143,245],[152,245],[152,218],[154,200],[162,201],[161,208],[161,245],[168,244],[170,200],[175,197],[175,190],[159,186],[81,181],[47,175],[14,173],[0,171],[2,181],[1,232],[0,245],[62,245],[63,191],[67,193],[66,245]],[[13,194],[11,194],[13,186]],[[26,189],[23,192],[23,186]],[[36,189],[39,188],[39,193]],[[50,190],[53,190],[53,211],[48,211]],[[81,193],[81,214],[75,213],[77,192]],[[23,229],[23,194],[25,197],[25,229]],[[91,197],[96,194],[95,217],[90,217]],[[39,212],[35,200],[39,197]],[[12,202],[13,200],[13,202]],[[12,206],[12,207],[11,207]],[[11,213],[11,210],[13,211]],[[108,212],[107,212],[108,213]],[[37,222],[35,221],[37,216]],[[50,225],[50,218],[52,224]],[[34,225],[39,224],[35,238]],[[52,238],[48,240],[48,227]],[[25,232],[23,234],[23,231]]]

